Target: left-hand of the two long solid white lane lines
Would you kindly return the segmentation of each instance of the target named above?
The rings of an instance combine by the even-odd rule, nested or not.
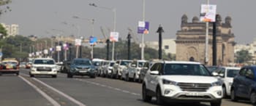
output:
[[[43,92],[42,90],[40,90],[39,88],[37,88],[37,86],[35,86],[33,83],[27,81],[25,78],[23,78],[22,76],[19,76],[23,81],[25,81],[26,83],[28,83],[30,86],[32,86],[34,89],[36,89],[37,92],[39,92],[39,94],[42,95],[42,97],[45,97],[45,99],[47,99],[51,104],[53,104],[54,106],[61,106],[59,105],[58,102],[56,102],[53,98],[51,98],[50,96],[48,96],[47,94],[45,94],[45,92]]]

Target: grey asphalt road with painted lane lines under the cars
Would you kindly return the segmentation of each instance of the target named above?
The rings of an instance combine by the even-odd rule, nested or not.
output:
[[[141,99],[141,84],[110,78],[67,78],[59,73],[57,78],[36,76],[30,78],[29,70],[21,69],[20,76],[0,76],[0,105],[2,106],[156,106]],[[170,104],[167,104],[170,105]],[[188,104],[171,104],[184,106]],[[189,106],[193,106],[189,104]],[[209,106],[201,103],[195,106]],[[251,106],[249,102],[231,102],[222,99],[222,106]]]

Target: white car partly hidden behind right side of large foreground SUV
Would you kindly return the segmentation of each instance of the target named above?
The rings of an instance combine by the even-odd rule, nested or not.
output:
[[[233,83],[233,78],[238,75],[240,69],[241,68],[236,67],[221,67],[219,70],[213,72],[223,81],[222,89],[224,98],[230,96],[230,89]]]

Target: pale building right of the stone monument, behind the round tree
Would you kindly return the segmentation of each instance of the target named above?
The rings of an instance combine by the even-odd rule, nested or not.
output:
[[[241,50],[247,50],[250,54],[252,54],[252,64],[256,64],[256,38],[252,42],[252,44],[236,44],[234,49],[234,54]]]

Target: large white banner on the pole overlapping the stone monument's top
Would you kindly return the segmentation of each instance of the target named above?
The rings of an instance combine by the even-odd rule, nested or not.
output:
[[[215,22],[217,5],[201,4],[200,21]]]

